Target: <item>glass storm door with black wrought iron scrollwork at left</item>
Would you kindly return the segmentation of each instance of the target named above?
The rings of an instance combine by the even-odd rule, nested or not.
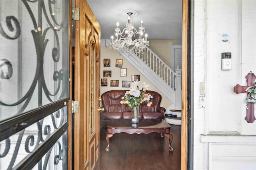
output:
[[[0,169],[67,169],[69,1],[0,1]]]

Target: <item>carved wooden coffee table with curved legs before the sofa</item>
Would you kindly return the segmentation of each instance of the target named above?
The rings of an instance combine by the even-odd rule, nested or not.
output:
[[[109,152],[109,139],[115,133],[121,132],[129,134],[157,132],[161,133],[161,137],[164,137],[164,133],[165,136],[169,138],[169,151],[173,151],[170,129],[170,125],[164,119],[140,119],[138,124],[132,124],[130,119],[111,119],[107,126],[106,141],[108,146],[106,147],[106,152]]]

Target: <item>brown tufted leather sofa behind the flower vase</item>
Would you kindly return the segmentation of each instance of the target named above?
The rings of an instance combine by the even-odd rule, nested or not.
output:
[[[102,107],[100,111],[101,125],[108,124],[110,119],[132,119],[131,108],[127,104],[120,104],[121,98],[127,90],[110,90],[101,95]],[[162,96],[158,92],[147,90],[153,97],[150,99],[152,105],[147,106],[144,102],[139,107],[139,119],[164,119],[164,107],[160,107]]]

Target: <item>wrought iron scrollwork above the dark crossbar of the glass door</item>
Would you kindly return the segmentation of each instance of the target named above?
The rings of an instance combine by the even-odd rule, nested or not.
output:
[[[42,28],[38,27],[38,24],[36,22],[36,19],[34,17],[34,14],[31,10],[30,6],[28,5],[28,2],[26,0],[22,0],[22,2],[24,4],[24,6],[26,7],[26,9],[28,10],[28,13],[29,13],[30,18],[32,20],[32,23],[34,25],[34,29],[31,30],[31,33],[32,33],[32,37],[34,39],[34,45],[35,45],[35,49],[36,49],[36,72],[34,74],[34,78],[33,78],[33,81],[30,85],[30,88],[28,89],[26,94],[20,100],[18,100],[17,102],[15,102],[13,104],[6,104],[2,100],[0,100],[0,104],[3,105],[3,106],[17,106],[18,104],[21,104],[22,102],[24,102],[26,100],[17,114],[22,113],[24,111],[24,109],[26,109],[26,107],[28,106],[28,104],[30,102],[32,94],[34,93],[36,85],[38,84],[39,81],[42,84],[42,89],[44,90],[44,94],[45,94],[46,98],[50,102],[53,102],[53,100],[50,98],[50,96],[56,96],[59,93],[60,93],[59,99],[63,98],[63,96],[66,93],[66,90],[68,88],[66,86],[67,84],[63,84],[62,91],[60,92],[60,86],[61,86],[61,82],[63,80],[63,77],[64,77],[64,75],[68,74],[67,69],[60,69],[59,71],[54,71],[53,80],[58,81],[58,84],[57,84],[57,88],[56,88],[56,90],[53,94],[51,94],[50,90],[48,90],[46,82],[44,80],[44,51],[45,51],[46,45],[49,41],[48,39],[45,39],[46,34],[49,30],[52,30],[53,33],[54,33],[54,38],[56,39],[57,47],[53,47],[53,49],[52,49],[52,59],[55,63],[57,63],[60,59],[60,42],[59,42],[59,37],[58,37],[57,31],[60,31],[63,28],[62,24],[64,24],[64,21],[62,20],[62,22],[60,24],[58,24],[57,21],[55,19],[53,19],[54,24],[59,26],[59,28],[56,28],[56,26],[54,26],[48,18],[48,15],[46,13],[46,8],[45,8],[45,5],[44,5],[44,1],[36,1],[36,0],[35,1],[28,1],[28,2],[38,2],[38,4],[40,4],[40,6],[42,8],[45,19],[46,19],[47,23],[50,25],[49,27],[46,27],[43,31],[43,30],[41,30]],[[48,1],[48,2],[49,2],[49,5],[54,4],[55,0],[54,1]],[[52,12],[51,6],[50,6],[50,11]],[[52,16],[52,18],[54,18],[54,17]],[[63,18],[65,19],[66,17],[63,16]],[[2,25],[1,25],[0,33],[1,33],[1,35],[6,37],[7,39],[16,39],[20,36],[20,24],[19,24],[18,20],[15,17],[7,16],[6,17],[6,24],[7,24],[7,27],[10,31],[14,30],[12,25],[11,25],[11,22],[10,22],[11,20],[13,20],[15,25],[16,25],[16,35],[14,37],[8,36],[7,33],[5,31],[3,31]],[[67,25],[65,25],[65,26],[67,26]],[[38,98],[39,97],[42,98],[42,96],[38,96]],[[41,106],[41,105],[39,104],[39,106]]]

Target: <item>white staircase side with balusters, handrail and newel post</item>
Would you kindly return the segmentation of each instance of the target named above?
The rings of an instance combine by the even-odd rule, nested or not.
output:
[[[175,105],[175,110],[181,110],[181,69],[174,72],[148,47],[140,56],[120,54]]]

